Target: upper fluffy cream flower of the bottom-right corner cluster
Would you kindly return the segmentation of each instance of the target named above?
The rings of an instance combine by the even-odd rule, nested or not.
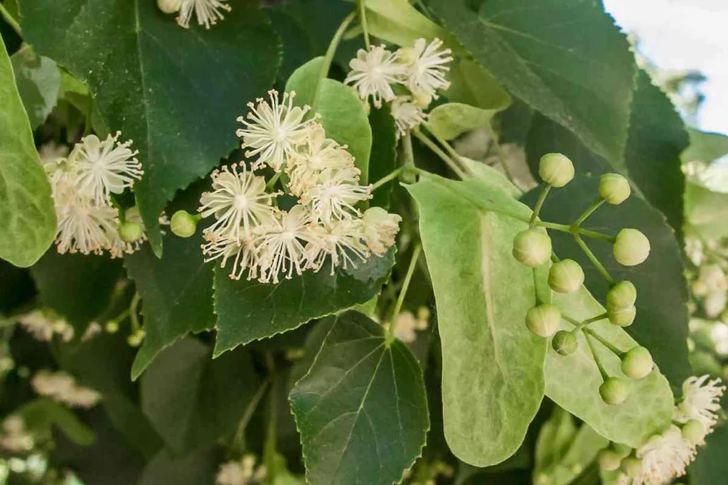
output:
[[[706,374],[688,377],[683,382],[683,398],[676,406],[675,420],[685,423],[695,419],[710,433],[718,422],[716,413],[721,409],[720,400],[726,387],[721,385],[721,379],[708,379]]]

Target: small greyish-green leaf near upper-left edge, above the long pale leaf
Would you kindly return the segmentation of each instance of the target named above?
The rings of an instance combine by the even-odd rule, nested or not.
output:
[[[35,130],[58,103],[60,70],[55,62],[36,55],[27,45],[15,52],[11,60],[17,91]]]

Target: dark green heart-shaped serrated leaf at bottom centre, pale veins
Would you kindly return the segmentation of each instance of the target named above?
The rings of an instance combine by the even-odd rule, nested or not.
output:
[[[422,369],[357,312],[328,318],[313,366],[290,391],[306,481],[389,485],[422,452],[430,427]]]

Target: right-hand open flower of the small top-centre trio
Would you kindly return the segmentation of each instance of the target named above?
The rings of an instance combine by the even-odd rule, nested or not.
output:
[[[438,89],[450,87],[445,76],[450,70],[447,65],[453,60],[452,51],[440,50],[442,46],[440,39],[434,39],[430,44],[425,39],[417,39],[414,47],[400,50],[400,59],[407,66],[405,84],[412,92],[427,93],[437,99],[435,92]]]

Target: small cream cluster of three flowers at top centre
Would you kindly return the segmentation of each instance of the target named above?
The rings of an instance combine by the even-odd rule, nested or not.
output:
[[[360,49],[349,62],[351,71],[344,82],[352,84],[363,100],[371,96],[377,108],[382,101],[391,101],[397,135],[405,135],[424,121],[422,110],[438,98],[438,90],[450,87],[446,75],[453,58],[451,50],[442,47],[440,39],[430,44],[417,39],[413,47],[400,47],[395,52],[384,45]],[[409,94],[395,95],[392,86],[405,87]]]

